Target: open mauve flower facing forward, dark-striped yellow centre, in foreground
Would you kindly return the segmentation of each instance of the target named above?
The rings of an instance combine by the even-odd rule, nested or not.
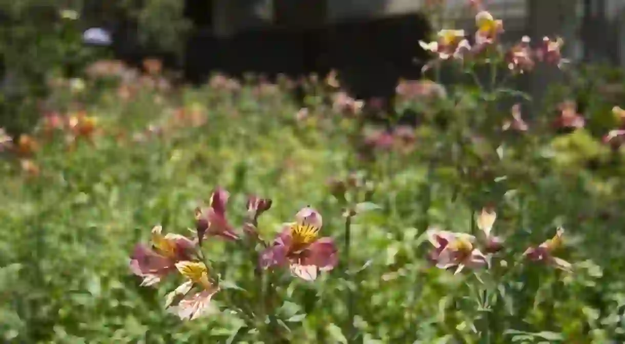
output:
[[[322,218],[316,210],[307,206],[295,218],[261,253],[259,263],[262,268],[288,265],[293,275],[312,281],[318,271],[329,271],[337,265],[337,248],[332,238],[319,238]]]

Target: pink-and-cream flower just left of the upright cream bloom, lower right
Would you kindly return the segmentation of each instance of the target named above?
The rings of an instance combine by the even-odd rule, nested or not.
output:
[[[473,247],[475,237],[466,233],[453,233],[435,228],[427,230],[427,238],[434,246],[429,253],[429,260],[437,268],[456,268],[454,275],[464,269],[479,268],[489,265],[488,258],[477,248]]]

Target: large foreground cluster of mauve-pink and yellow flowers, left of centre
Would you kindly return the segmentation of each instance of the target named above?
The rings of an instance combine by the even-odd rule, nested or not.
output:
[[[220,290],[219,276],[212,273],[202,251],[210,238],[239,241],[241,235],[226,218],[229,193],[216,188],[209,205],[196,209],[195,238],[174,233],[163,234],[161,226],[151,232],[151,245],[136,245],[130,258],[131,272],[142,278],[141,286],[154,286],[172,273],[184,282],[166,296],[166,309],[183,320],[194,320],[214,311],[211,300]],[[337,249],[331,238],[319,238],[322,218],[307,206],[297,212],[293,223],[284,226],[273,243],[262,240],[257,231],[259,216],[271,208],[272,201],[257,196],[247,200],[247,220],[243,233],[262,243],[258,264],[261,268],[286,266],[292,275],[315,280],[319,271],[332,270],[337,264]]]

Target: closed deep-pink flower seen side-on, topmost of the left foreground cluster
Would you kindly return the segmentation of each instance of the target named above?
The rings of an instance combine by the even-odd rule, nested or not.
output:
[[[216,188],[207,208],[196,208],[196,230],[199,244],[202,245],[204,236],[221,236],[228,240],[239,238],[226,219],[226,204],[230,194],[222,188]]]

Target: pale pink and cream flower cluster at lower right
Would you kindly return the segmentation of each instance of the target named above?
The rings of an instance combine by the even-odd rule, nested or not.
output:
[[[502,238],[492,235],[492,227],[496,218],[497,214],[494,210],[482,209],[476,217],[477,228],[481,231],[479,238],[467,233],[443,231],[436,228],[427,230],[427,238],[434,246],[428,254],[429,261],[434,263],[437,268],[453,269],[454,274],[459,273],[464,268],[491,266],[492,256],[502,249],[504,243]],[[563,234],[564,230],[559,228],[554,238],[539,246],[528,248],[523,256],[531,261],[539,261],[561,270],[570,271],[570,263],[552,255],[562,246]],[[481,244],[481,249],[477,247],[478,243]]]

